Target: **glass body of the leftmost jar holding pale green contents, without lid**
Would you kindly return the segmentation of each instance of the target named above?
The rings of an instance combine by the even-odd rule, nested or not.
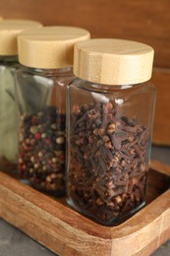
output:
[[[18,142],[15,104],[17,56],[0,56],[0,168],[17,172]]]

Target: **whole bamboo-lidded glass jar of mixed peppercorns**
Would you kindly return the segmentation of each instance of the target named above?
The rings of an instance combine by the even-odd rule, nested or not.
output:
[[[35,189],[65,193],[66,86],[74,79],[74,43],[89,32],[44,27],[19,35],[19,177]]]

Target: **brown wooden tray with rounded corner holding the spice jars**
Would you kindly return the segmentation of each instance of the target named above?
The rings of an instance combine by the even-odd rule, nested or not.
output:
[[[124,224],[95,224],[0,172],[0,217],[63,255],[149,255],[170,238],[170,167],[151,161],[146,206]]]

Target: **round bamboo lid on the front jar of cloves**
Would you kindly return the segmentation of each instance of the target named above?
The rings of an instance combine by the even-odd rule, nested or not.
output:
[[[75,45],[74,74],[106,85],[139,84],[151,77],[153,49],[123,39],[90,39]]]

